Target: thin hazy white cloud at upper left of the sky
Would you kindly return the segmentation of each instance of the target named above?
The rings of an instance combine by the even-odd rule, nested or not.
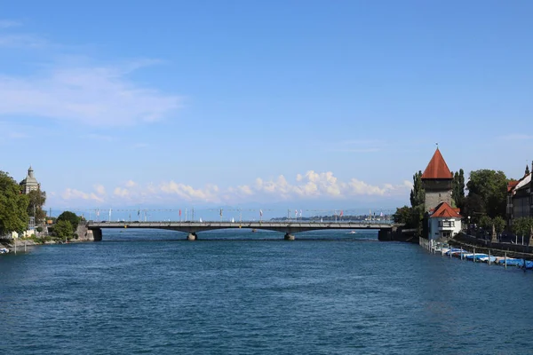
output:
[[[0,115],[28,114],[91,126],[154,122],[181,99],[127,80],[111,67],[58,67],[33,77],[0,76]]]

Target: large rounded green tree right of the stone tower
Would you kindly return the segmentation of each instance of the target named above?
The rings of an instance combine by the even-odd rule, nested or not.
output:
[[[465,206],[467,213],[485,213],[489,217],[505,217],[507,194],[507,177],[503,171],[474,170],[470,173],[470,180],[466,184],[468,197]],[[477,197],[474,197],[477,196]],[[475,202],[468,201],[475,199]]]

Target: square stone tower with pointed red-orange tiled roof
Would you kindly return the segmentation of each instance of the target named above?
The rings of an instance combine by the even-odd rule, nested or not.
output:
[[[437,207],[442,201],[452,205],[451,182],[453,176],[438,147],[421,178],[426,191],[426,212]]]

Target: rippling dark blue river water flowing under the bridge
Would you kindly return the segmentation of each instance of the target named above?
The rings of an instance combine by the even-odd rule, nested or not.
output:
[[[533,347],[533,272],[377,233],[104,231],[0,256],[2,354],[471,354]],[[507,291],[505,291],[507,290]]]

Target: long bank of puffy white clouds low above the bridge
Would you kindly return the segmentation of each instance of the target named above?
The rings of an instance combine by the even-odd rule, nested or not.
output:
[[[125,186],[125,187],[124,187]],[[198,188],[175,181],[166,181],[155,185],[139,185],[128,180],[113,189],[113,195],[107,198],[106,189],[95,185],[95,193],[82,193],[68,189],[62,197],[66,200],[75,198],[83,200],[103,201],[119,204],[121,202],[142,203],[144,201],[192,201],[198,203],[242,203],[247,201],[301,201],[301,200],[346,200],[358,196],[400,196],[409,195],[412,184],[408,180],[402,183],[372,185],[357,178],[339,181],[330,171],[316,172],[309,170],[298,174],[290,181],[280,175],[265,180],[258,177],[252,185],[229,186],[220,189],[218,185],[205,185]],[[253,199],[253,200],[251,200]]]

